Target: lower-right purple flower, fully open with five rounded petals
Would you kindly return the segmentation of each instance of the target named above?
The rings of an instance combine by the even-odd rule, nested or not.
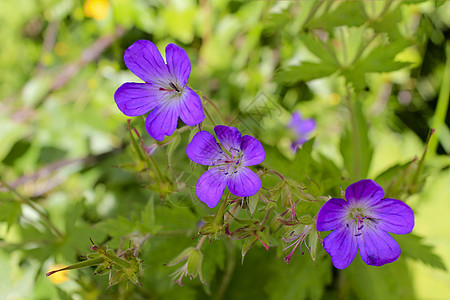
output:
[[[405,203],[383,199],[383,189],[373,180],[351,184],[345,198],[331,198],[317,215],[317,230],[333,230],[323,240],[333,265],[345,269],[359,249],[362,260],[372,266],[391,263],[400,256],[400,247],[388,234],[410,233],[414,213]]]

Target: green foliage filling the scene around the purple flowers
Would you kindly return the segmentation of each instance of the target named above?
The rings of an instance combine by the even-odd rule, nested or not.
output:
[[[446,1],[109,0],[102,20],[85,2],[2,3],[0,295],[433,298],[413,286],[430,280],[417,262],[448,282],[448,256],[436,254],[448,251],[435,249],[445,243],[427,238],[426,222],[415,229],[424,238],[395,236],[398,261],[370,267],[357,257],[344,271],[315,230],[323,203],[364,178],[416,215],[429,204],[428,176],[448,169]],[[127,124],[114,92],[138,81],[123,63],[138,39],[163,55],[168,43],[186,50],[189,86],[208,112],[202,124],[180,121],[162,142],[147,135],[145,118]],[[317,123],[296,152],[294,111]],[[186,145],[215,124],[255,136],[266,159],[250,167],[262,180],[257,194],[225,190],[209,209],[195,194],[206,167],[190,163]],[[441,129],[425,155],[428,124]],[[408,139],[414,150],[393,146]],[[57,285],[45,277],[57,263],[87,268]]]

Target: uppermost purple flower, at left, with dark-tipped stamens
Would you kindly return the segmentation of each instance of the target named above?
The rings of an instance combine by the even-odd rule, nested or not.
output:
[[[145,128],[155,140],[171,135],[178,117],[189,126],[205,119],[200,97],[186,85],[191,63],[183,49],[167,45],[166,64],[152,42],[139,40],[125,51],[124,61],[144,83],[124,83],[114,100],[120,111],[130,117],[150,111]]]

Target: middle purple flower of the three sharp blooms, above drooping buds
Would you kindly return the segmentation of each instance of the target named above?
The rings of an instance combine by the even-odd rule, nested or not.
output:
[[[197,197],[213,208],[219,203],[225,187],[238,197],[252,196],[261,188],[261,179],[247,166],[264,161],[261,143],[234,127],[216,126],[214,132],[221,145],[207,131],[198,132],[186,148],[187,156],[200,165],[212,166],[195,186]]]

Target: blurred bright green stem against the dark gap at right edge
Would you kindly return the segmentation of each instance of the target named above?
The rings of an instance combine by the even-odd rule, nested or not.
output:
[[[439,92],[438,103],[432,122],[432,128],[434,128],[436,132],[434,134],[434,137],[431,137],[430,145],[428,147],[431,156],[436,154],[442,127],[445,124],[448,102],[450,101],[450,41],[447,41],[447,45],[445,47],[445,55],[447,61],[445,63],[441,90]]]

